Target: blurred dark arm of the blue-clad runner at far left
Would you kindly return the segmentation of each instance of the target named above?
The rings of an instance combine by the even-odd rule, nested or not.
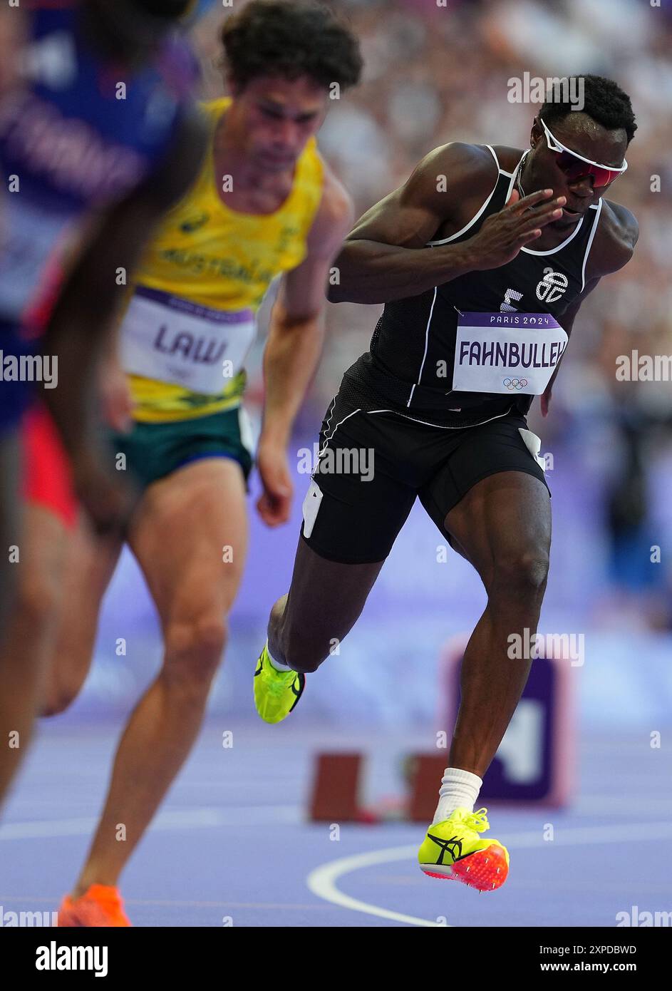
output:
[[[185,110],[161,164],[87,230],[42,341],[58,363],[58,385],[45,390],[45,401],[69,456],[75,491],[99,529],[118,528],[128,512],[117,473],[105,468],[97,429],[97,373],[127,291],[118,275],[122,270],[128,280],[155,226],[193,180],[205,135],[200,115]]]

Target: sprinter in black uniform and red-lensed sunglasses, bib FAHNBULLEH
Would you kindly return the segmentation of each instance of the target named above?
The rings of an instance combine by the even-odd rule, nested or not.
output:
[[[332,300],[385,310],[322,424],[291,588],[257,669],[270,700],[258,692],[258,710],[277,721],[352,628],[418,496],[488,594],[420,866],[481,890],[504,882],[508,857],[480,838],[474,805],[530,666],[507,657],[508,637],[536,630],[548,568],[549,492],[525,414],[535,394],[546,414],[582,301],[637,239],[630,212],[603,198],[627,167],[630,101],[584,80],[583,110],[550,94],[527,151],[438,148],[348,237]],[[357,465],[339,453],[369,449],[373,480],[338,471]]]

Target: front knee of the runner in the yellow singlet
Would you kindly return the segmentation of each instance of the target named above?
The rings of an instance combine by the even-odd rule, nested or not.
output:
[[[215,612],[168,622],[168,679],[181,685],[209,685],[222,659],[227,635],[226,617]]]

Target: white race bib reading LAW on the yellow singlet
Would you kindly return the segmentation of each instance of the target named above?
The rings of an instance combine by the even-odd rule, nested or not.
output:
[[[242,369],[256,333],[251,309],[211,309],[141,285],[121,326],[124,371],[217,395]]]

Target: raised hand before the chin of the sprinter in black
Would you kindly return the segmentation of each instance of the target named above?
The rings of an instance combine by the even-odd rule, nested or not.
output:
[[[479,233],[465,242],[472,272],[499,269],[512,262],[526,244],[541,237],[542,229],[562,216],[567,202],[565,196],[552,196],[552,189],[539,189],[520,199],[514,189],[504,209],[488,217]]]

